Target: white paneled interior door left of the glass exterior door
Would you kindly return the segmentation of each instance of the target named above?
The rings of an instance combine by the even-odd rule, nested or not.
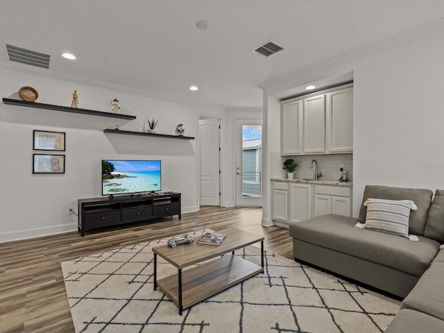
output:
[[[199,121],[199,204],[220,205],[220,120]]]

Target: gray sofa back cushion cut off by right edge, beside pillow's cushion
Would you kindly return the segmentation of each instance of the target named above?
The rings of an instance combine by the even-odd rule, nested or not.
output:
[[[444,243],[444,190],[437,189],[429,210],[424,236]]]

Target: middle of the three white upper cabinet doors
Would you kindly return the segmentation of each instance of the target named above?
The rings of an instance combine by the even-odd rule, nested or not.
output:
[[[325,94],[304,99],[304,153],[325,153]]]

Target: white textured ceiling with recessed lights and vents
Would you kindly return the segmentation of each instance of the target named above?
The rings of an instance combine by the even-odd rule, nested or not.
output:
[[[11,44],[50,54],[39,71],[259,108],[259,84],[443,18],[444,1],[0,1],[0,62]],[[284,50],[250,52],[268,40]]]

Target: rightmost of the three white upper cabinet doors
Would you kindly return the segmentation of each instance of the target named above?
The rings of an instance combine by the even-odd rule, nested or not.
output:
[[[353,88],[345,88],[327,95],[327,151],[353,152]]]

